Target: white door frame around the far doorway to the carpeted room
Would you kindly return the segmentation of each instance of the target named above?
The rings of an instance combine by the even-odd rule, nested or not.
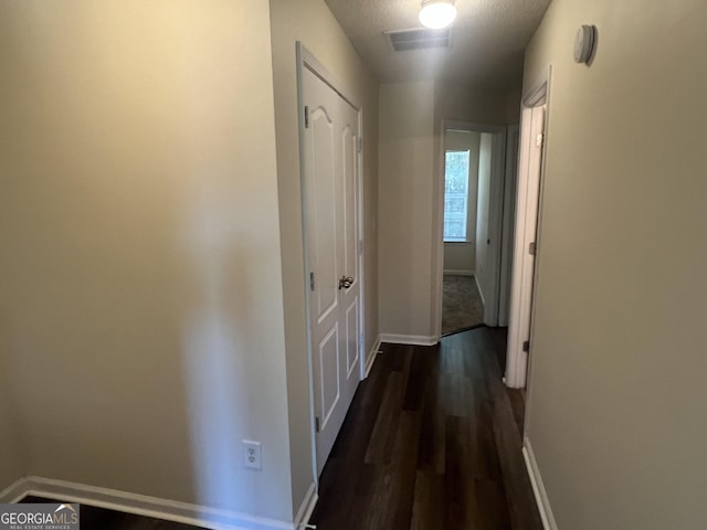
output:
[[[492,153],[492,188],[489,197],[489,231],[494,236],[489,237],[489,255],[492,256],[490,267],[494,271],[495,287],[492,289],[492,298],[484,300],[484,324],[496,326],[498,321],[498,292],[500,280],[500,236],[503,224],[503,199],[504,199],[504,172],[506,165],[506,126],[475,124],[471,121],[460,121],[452,119],[442,120],[440,131],[440,157],[434,183],[433,200],[433,230],[434,241],[432,242],[432,318],[435,338],[439,341],[442,337],[442,286],[444,283],[444,168],[445,148],[444,136],[449,129],[468,130],[472,132],[488,132],[492,135],[503,135],[503,141],[495,142]],[[474,234],[476,237],[476,234]]]

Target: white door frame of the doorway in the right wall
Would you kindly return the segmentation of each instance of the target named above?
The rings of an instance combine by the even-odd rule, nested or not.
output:
[[[511,285],[510,297],[510,322],[508,332],[508,349],[506,352],[506,385],[511,389],[523,389],[527,384],[527,375],[531,364],[531,352],[535,335],[535,309],[536,297],[534,296],[534,286],[537,285],[538,272],[540,268],[540,254],[541,254],[541,223],[542,223],[542,195],[545,188],[545,160],[547,150],[547,130],[549,123],[549,100],[550,100],[550,82],[551,82],[551,67],[548,67],[542,78],[523,97],[521,116],[525,116],[525,110],[546,106],[545,124],[542,129],[542,149],[539,168],[539,186],[537,194],[537,227],[536,227],[536,254],[532,277],[527,280],[521,280],[520,271],[523,269],[523,261],[527,248],[519,248],[516,246],[516,252],[513,256],[514,277]],[[520,121],[520,141],[523,142],[523,135],[530,134],[530,124],[527,119]],[[518,174],[523,174],[524,160],[520,158],[521,152],[518,152]],[[518,190],[520,190],[521,183],[518,182]],[[527,195],[518,192],[516,204],[516,226],[515,233],[525,233],[526,223],[531,220],[528,216],[529,203]],[[532,209],[535,210],[535,208]],[[518,244],[524,244],[518,237]],[[525,330],[529,330],[526,335]],[[523,343],[528,341],[528,352],[524,351]]]

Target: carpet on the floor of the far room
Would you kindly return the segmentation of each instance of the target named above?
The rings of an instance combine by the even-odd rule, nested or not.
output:
[[[442,335],[484,324],[484,306],[473,276],[444,275]]]

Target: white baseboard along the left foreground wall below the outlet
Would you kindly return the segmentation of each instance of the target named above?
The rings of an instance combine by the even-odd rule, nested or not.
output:
[[[115,489],[99,488],[85,484],[70,483],[66,480],[55,480],[44,477],[27,477],[18,480],[10,488],[2,491],[3,495],[14,496],[13,501],[22,499],[25,495],[48,497],[71,502],[86,504],[98,508],[118,510],[138,516],[155,517],[168,521],[181,522],[203,527],[210,530],[297,530],[298,524],[294,522],[279,521],[254,517],[247,513],[240,513],[205,506],[191,505],[176,500],[159,499],[146,495],[129,494]],[[312,489],[314,491],[314,489]],[[12,495],[10,495],[12,497]],[[7,497],[7,498],[10,498]],[[305,499],[306,508],[300,508],[302,517],[308,517],[307,510],[314,508],[312,495]],[[316,492],[314,494],[316,499]],[[2,497],[6,499],[6,497]],[[6,500],[3,500],[4,502]]]

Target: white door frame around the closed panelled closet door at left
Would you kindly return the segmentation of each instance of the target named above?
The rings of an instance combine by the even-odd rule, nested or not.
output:
[[[305,314],[306,314],[306,336],[307,336],[307,371],[309,375],[309,431],[312,436],[312,474],[314,477],[317,489],[319,488],[319,474],[317,473],[317,432],[315,424],[315,403],[314,403],[314,360],[312,349],[312,321],[309,311],[309,275],[308,275],[308,256],[307,256],[307,223],[306,223],[306,198],[305,191],[305,153],[304,153],[304,137],[305,137],[305,115],[303,103],[303,75],[304,71],[309,70],[327,85],[329,85],[339,96],[347,100],[358,113],[358,128],[359,128],[359,148],[357,159],[357,194],[358,194],[358,234],[359,234],[359,253],[358,253],[358,267],[359,267],[359,379],[366,378],[366,303],[365,303],[365,234],[363,234],[363,109],[361,105],[348,95],[348,91],[339,83],[329,71],[309,52],[302,42],[296,43],[296,56],[297,56],[297,109],[298,109],[298,123],[299,123],[299,179],[300,179],[300,200],[302,200],[302,233],[303,233],[303,255],[304,255],[304,271],[305,277],[303,277],[303,286],[305,293]]]

